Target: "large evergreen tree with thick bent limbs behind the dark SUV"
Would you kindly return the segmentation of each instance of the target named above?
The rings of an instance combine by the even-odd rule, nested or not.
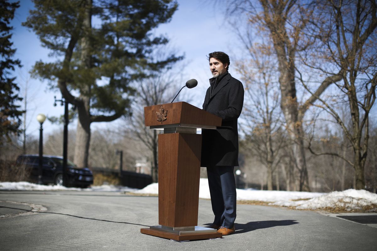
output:
[[[178,5],[173,0],[34,0],[34,4],[23,25],[34,30],[56,58],[38,61],[34,74],[58,87],[77,107],[74,162],[87,166],[90,124],[130,114],[134,93],[130,83],[182,58],[169,55],[161,61],[151,54],[168,42],[151,31],[169,22]]]

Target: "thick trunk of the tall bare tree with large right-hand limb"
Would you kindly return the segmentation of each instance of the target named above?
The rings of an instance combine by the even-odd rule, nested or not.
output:
[[[273,2],[273,1],[271,1]],[[291,43],[285,28],[287,16],[284,15],[288,2],[272,4],[260,0],[264,9],[264,20],[270,30],[271,39],[276,51],[279,85],[281,92],[280,107],[287,123],[287,131],[292,141],[293,158],[300,172],[300,191],[310,191],[307,164],[303,144],[302,116],[299,116],[299,105],[296,97],[295,60],[296,47]],[[271,3],[271,4],[270,4]]]

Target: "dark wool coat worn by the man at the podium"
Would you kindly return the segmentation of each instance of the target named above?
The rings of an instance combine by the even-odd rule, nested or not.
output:
[[[238,166],[237,119],[244,105],[244,87],[228,71],[219,79],[218,83],[210,79],[203,110],[221,117],[222,123],[216,130],[202,129],[201,166]]]

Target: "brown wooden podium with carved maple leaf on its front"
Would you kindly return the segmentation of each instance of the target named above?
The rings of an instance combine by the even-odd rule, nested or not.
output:
[[[144,107],[145,125],[158,135],[158,226],[141,233],[173,240],[221,237],[199,227],[199,179],[202,135],[197,128],[216,129],[221,118],[185,102]]]

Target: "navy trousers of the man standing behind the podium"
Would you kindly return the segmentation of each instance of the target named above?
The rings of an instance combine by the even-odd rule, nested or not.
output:
[[[234,166],[207,167],[212,211],[215,214],[213,224],[233,228],[236,220],[236,181]]]

